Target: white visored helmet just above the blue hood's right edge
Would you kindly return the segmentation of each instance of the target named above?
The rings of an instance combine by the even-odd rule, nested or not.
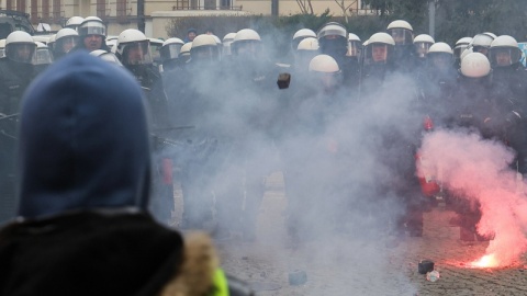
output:
[[[150,43],[143,32],[127,29],[117,37],[116,56],[126,66],[152,64]]]

